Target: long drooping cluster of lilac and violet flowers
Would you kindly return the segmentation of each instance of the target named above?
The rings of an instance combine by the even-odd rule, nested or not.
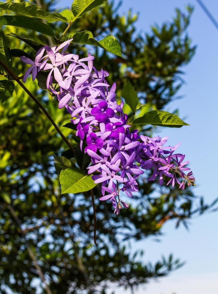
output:
[[[123,207],[129,205],[120,199],[120,192],[133,197],[138,191],[136,179],[144,170],[152,170],[148,179],[163,176],[169,178],[168,184],[177,182],[180,189],[195,185],[192,172],[185,167],[185,155],[175,153],[175,147],[164,146],[167,137],[150,138],[138,134],[137,130],[130,132],[127,114],[123,113],[123,102],[117,104],[115,99],[116,83],[111,87],[106,82],[107,71],[98,71],[93,66],[90,53],[86,58],[65,53],[71,40],[60,46],[44,46],[35,57],[35,61],[21,57],[22,61],[31,64],[24,76],[32,71],[32,79],[40,70],[48,71],[47,88],[56,95],[58,107],[66,107],[71,114],[71,122],[77,125],[76,136],[80,138],[80,149],[86,145],[92,164],[87,168],[93,174],[95,183],[101,183],[102,197],[110,199],[117,214]],[[60,52],[61,50],[61,52]],[[85,63],[86,62],[86,63]],[[180,179],[180,180],[179,180]]]

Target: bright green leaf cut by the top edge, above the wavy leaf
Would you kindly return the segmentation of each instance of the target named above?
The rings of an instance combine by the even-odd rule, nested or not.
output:
[[[82,16],[85,12],[92,10],[93,8],[106,3],[107,0],[74,0],[71,10],[74,15],[72,21]]]

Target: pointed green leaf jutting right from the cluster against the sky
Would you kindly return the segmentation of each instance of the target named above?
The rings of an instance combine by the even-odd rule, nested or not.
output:
[[[181,128],[182,126],[188,126],[177,115],[163,111],[153,110],[144,114],[144,116],[134,119],[134,125],[155,125],[170,128]]]

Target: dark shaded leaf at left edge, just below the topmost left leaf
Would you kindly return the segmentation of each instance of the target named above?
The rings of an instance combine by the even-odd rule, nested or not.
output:
[[[55,34],[50,26],[35,17],[23,15],[4,15],[0,16],[0,25],[17,26],[20,28],[30,29],[55,38]]]

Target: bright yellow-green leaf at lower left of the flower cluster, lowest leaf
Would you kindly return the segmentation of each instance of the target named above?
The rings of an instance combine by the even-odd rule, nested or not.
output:
[[[67,168],[60,173],[61,193],[81,193],[96,186],[91,175],[77,168]]]

